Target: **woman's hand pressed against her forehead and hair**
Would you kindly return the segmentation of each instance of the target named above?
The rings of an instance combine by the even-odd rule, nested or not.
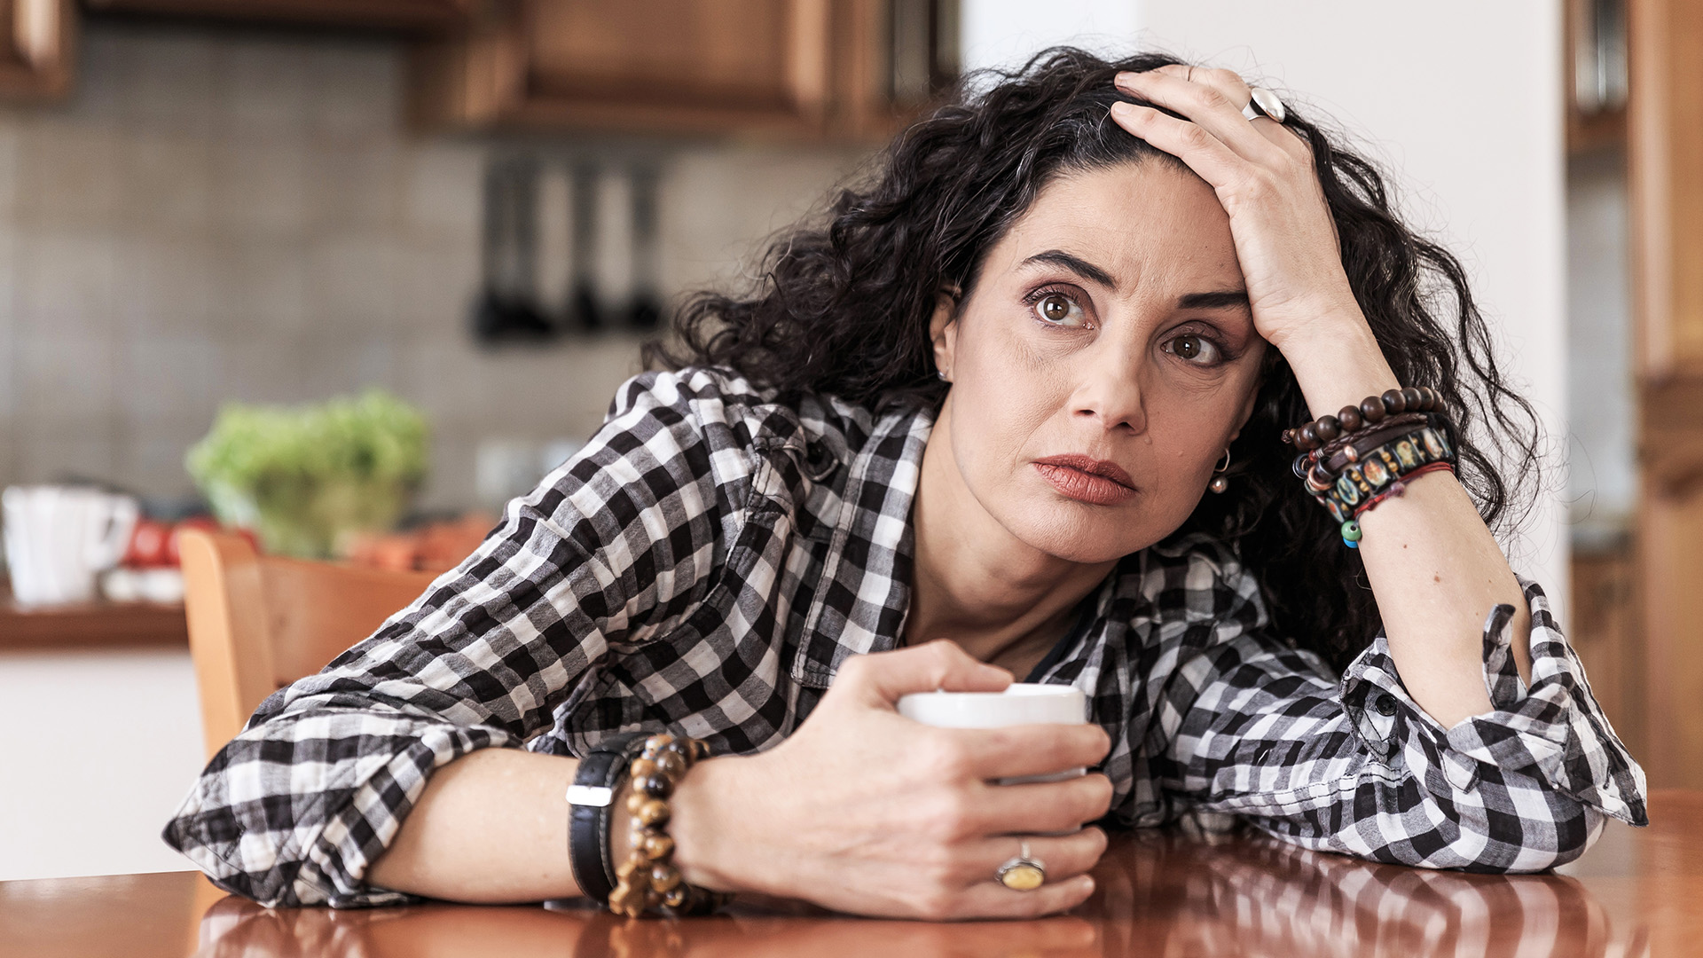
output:
[[[1240,75],[1160,66],[1119,73],[1117,87],[1189,118],[1112,106],[1119,126],[1180,159],[1218,193],[1260,336],[1284,349],[1293,339],[1342,336],[1344,324],[1354,332],[1366,327],[1342,269],[1313,153],[1276,119],[1241,114],[1252,92]]]

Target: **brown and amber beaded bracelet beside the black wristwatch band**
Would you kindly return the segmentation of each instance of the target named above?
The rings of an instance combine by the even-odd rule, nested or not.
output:
[[[710,747],[698,738],[652,735],[644,752],[632,762],[628,781],[632,794],[627,811],[632,813],[627,861],[615,869],[618,883],[610,892],[610,910],[637,919],[651,909],[666,915],[707,915],[732,895],[688,885],[674,868],[674,839],[668,835],[668,798],[679,781]]]

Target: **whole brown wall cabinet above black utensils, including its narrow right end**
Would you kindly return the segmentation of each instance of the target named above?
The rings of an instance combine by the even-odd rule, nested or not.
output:
[[[422,44],[424,126],[880,138],[955,66],[942,0],[506,0]]]

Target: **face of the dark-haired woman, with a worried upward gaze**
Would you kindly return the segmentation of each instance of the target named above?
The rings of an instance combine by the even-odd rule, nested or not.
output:
[[[947,438],[947,481],[1076,563],[1189,518],[1253,407],[1265,351],[1230,218],[1160,160],[1052,181],[932,331],[952,380],[930,443]]]

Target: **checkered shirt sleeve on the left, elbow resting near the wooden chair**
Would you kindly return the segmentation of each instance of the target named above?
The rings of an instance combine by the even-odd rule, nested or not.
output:
[[[366,885],[434,769],[521,747],[634,631],[708,578],[717,484],[690,384],[628,382],[603,430],[460,568],[269,697],[165,840],[264,905],[380,905]]]

